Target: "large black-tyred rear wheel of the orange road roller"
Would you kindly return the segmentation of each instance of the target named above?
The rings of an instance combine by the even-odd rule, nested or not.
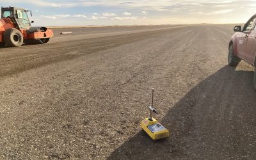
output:
[[[7,47],[19,47],[23,44],[22,33],[16,28],[10,28],[4,31],[4,42]]]

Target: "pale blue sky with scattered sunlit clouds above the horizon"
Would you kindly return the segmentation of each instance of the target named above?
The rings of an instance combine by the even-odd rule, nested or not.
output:
[[[245,23],[256,0],[0,0],[33,10],[38,26]]]

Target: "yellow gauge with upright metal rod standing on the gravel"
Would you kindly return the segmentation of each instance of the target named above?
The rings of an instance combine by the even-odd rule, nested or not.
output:
[[[158,113],[156,109],[154,109],[154,89],[152,89],[152,106],[150,106],[149,109],[150,117],[142,120],[141,128],[147,132],[148,136],[150,136],[153,140],[168,138],[170,135],[168,129],[153,118],[153,113]]]

